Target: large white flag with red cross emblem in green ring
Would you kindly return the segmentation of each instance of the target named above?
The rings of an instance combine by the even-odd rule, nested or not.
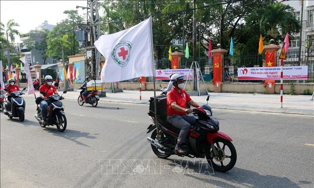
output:
[[[129,29],[102,35],[94,45],[106,59],[102,83],[154,76],[152,17]]]

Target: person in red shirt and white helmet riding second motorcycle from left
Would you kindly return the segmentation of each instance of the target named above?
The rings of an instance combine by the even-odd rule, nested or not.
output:
[[[41,116],[42,119],[47,122],[47,107],[50,105],[50,101],[49,100],[45,100],[48,98],[48,96],[51,96],[52,94],[57,94],[59,96],[61,96],[60,94],[58,94],[57,89],[52,86],[52,77],[50,75],[47,75],[45,77],[45,83],[43,85],[40,86],[39,88],[39,92],[44,92],[45,94],[40,94],[40,97],[43,98],[43,100],[40,102],[40,106],[41,106]],[[63,99],[63,97],[62,97]]]

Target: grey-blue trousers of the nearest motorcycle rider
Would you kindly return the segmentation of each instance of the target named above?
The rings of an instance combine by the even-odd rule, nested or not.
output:
[[[188,131],[191,129],[191,125],[196,124],[196,117],[194,115],[167,115],[167,120],[176,128],[181,129],[178,142],[185,143],[188,135]]]

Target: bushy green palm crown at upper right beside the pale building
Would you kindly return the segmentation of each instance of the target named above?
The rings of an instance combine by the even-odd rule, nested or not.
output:
[[[261,15],[260,28],[276,40],[280,35],[287,32],[299,32],[300,22],[294,17],[293,8],[283,3],[270,3],[268,6],[259,9]]]

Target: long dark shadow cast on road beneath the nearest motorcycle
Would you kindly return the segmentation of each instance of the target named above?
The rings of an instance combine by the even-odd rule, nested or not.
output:
[[[278,177],[272,175],[261,175],[257,172],[240,169],[234,167],[226,173],[214,171],[206,160],[178,160],[168,159],[171,161],[168,165],[171,167],[173,173],[182,174],[191,178],[195,178],[199,181],[206,182],[213,186],[223,188],[234,188],[234,184],[240,187],[250,188],[299,188],[304,184],[312,184],[309,181],[299,181],[300,184],[296,184],[286,177]],[[207,164],[206,164],[207,163]],[[207,175],[207,178],[199,177],[199,174]],[[223,181],[213,180],[211,177],[221,178]],[[228,182],[230,183],[228,183]]]

